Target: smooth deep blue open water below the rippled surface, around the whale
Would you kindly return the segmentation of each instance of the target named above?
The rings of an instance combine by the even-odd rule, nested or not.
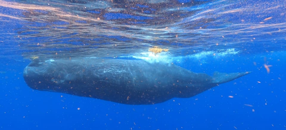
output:
[[[209,57],[205,59],[209,64],[202,65],[186,59],[179,65],[195,72],[253,72],[197,96],[155,105],[32,90],[22,77],[29,61],[16,60],[1,58],[1,70],[6,72],[1,74],[3,129],[285,129],[286,125],[284,52]],[[273,65],[269,74],[265,63]]]

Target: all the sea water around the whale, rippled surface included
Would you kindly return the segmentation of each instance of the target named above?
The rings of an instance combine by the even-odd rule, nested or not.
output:
[[[0,1],[1,129],[286,129],[286,1]],[[152,47],[169,49],[154,55]],[[33,90],[33,58],[142,59],[251,74],[126,105]],[[142,66],[144,67],[144,66]],[[167,79],[166,79],[167,80]]]

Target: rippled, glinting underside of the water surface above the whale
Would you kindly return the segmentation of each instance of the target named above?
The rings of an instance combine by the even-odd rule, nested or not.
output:
[[[254,53],[262,42],[263,46],[271,46],[285,41],[283,3],[0,1],[0,7],[7,10],[0,17],[9,18],[9,22],[17,19],[22,25],[14,28],[17,35],[13,42],[18,43],[26,58],[136,56],[153,46],[168,48],[167,56],[231,48],[237,53]]]

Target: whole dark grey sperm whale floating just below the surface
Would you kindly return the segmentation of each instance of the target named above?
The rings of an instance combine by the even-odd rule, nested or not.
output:
[[[144,60],[78,58],[34,60],[24,69],[36,90],[68,93],[122,104],[156,104],[188,98],[250,72],[195,73],[174,64]]]

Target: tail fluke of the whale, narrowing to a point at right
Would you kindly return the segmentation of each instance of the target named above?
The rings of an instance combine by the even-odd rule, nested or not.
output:
[[[242,77],[243,75],[249,74],[251,71],[247,72],[237,72],[237,73],[220,73],[220,72],[214,72],[213,76],[213,83],[216,84],[221,84],[221,83],[226,83],[231,80],[235,80],[239,77]]]

